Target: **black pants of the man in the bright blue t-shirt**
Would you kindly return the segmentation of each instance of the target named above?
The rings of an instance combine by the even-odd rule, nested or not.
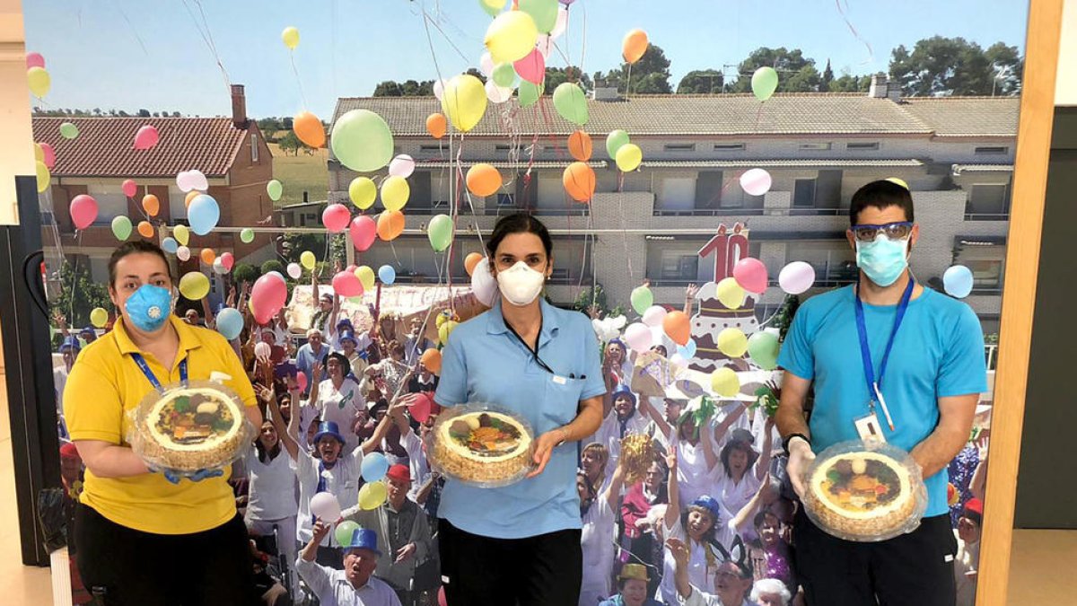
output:
[[[809,606],[953,606],[957,541],[949,515],[880,542],[833,537],[802,511],[794,522],[796,571]]]

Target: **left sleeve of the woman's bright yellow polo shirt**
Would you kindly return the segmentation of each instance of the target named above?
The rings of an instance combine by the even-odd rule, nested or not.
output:
[[[64,418],[72,440],[123,442],[124,402],[114,373],[78,360],[64,388]]]

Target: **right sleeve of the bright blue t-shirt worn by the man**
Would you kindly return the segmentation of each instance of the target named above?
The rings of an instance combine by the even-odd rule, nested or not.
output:
[[[949,343],[943,346],[936,391],[938,397],[966,396],[988,390],[988,369],[983,356],[983,329],[968,305],[962,304]]]

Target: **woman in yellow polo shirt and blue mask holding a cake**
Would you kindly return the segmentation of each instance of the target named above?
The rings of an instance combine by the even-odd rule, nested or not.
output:
[[[130,242],[109,260],[122,314],[84,349],[64,391],[71,439],[86,464],[75,512],[79,573],[101,604],[251,604],[247,528],[228,470],[193,479],[153,472],[125,441],[127,412],[160,385],[218,371],[261,427],[254,390],[228,342],[171,313],[173,280],[156,245]]]

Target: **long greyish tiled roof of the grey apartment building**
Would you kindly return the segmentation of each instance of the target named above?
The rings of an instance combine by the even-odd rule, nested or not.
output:
[[[760,104],[752,95],[638,95],[615,101],[588,100],[586,130],[630,135],[952,135],[1017,133],[1018,100],[1011,97],[907,99],[894,102],[857,93],[780,94]],[[345,97],[333,120],[353,109],[380,114],[397,137],[426,136],[425,120],[442,106],[433,97]],[[521,109],[516,99],[489,104],[470,135],[567,135],[551,97]]]

